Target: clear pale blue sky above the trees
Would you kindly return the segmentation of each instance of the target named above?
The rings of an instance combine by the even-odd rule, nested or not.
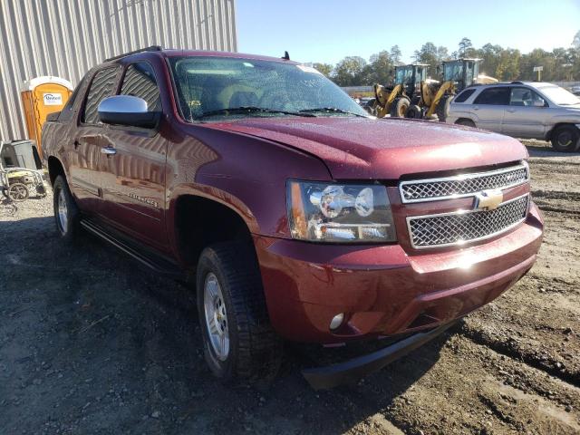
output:
[[[237,0],[236,12],[238,51],[281,56],[287,50],[301,62],[368,60],[394,44],[411,61],[422,43],[452,53],[464,36],[476,47],[498,43],[528,53],[567,48],[580,30],[580,0]],[[425,24],[411,24],[421,17]]]

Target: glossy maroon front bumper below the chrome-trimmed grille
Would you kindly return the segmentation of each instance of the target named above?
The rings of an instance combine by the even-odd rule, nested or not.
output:
[[[266,304],[286,339],[343,343],[418,332],[488,304],[536,260],[535,205],[511,232],[473,247],[408,255],[400,245],[321,245],[255,236]],[[336,330],[330,322],[344,313]]]

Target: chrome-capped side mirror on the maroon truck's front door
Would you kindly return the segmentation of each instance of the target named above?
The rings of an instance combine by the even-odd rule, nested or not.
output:
[[[131,95],[113,95],[99,104],[99,120],[105,124],[154,129],[160,121],[159,111],[147,111],[147,102]]]

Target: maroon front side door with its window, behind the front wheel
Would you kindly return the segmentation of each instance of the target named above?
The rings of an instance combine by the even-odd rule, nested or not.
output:
[[[153,66],[130,63],[121,81],[121,95],[139,97],[148,111],[162,111]],[[102,216],[112,227],[141,242],[165,249],[165,178],[167,139],[158,129],[107,125],[102,147]]]

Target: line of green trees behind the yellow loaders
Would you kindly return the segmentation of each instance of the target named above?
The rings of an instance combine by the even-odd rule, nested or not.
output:
[[[580,31],[575,34],[570,47],[555,48],[551,52],[536,48],[530,53],[521,53],[492,43],[475,48],[469,38],[463,38],[452,53],[447,47],[424,43],[412,55],[413,62],[429,64],[428,77],[437,80],[441,80],[438,68],[441,61],[460,57],[482,59],[479,73],[499,81],[536,80],[535,66],[544,67],[542,82],[580,81]],[[394,67],[401,64],[401,49],[399,45],[393,45],[391,50],[372,54],[368,62],[360,56],[347,56],[335,65],[314,63],[313,66],[339,86],[367,86],[390,84],[394,80]]]

